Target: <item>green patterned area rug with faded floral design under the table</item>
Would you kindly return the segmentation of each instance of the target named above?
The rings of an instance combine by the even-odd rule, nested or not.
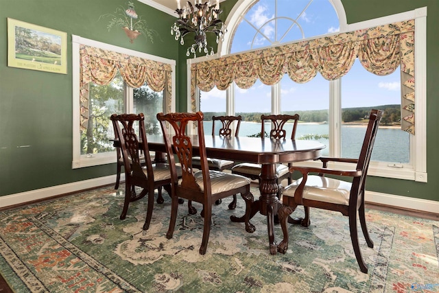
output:
[[[259,197],[253,189],[254,197]],[[439,292],[439,222],[366,211],[375,242],[359,237],[369,274],[360,272],[340,213],[311,209],[311,226],[289,227],[289,251],[270,255],[266,218],[250,234],[213,207],[206,255],[200,205],[180,204],[166,239],[170,200],[155,204],[142,231],[146,198],[119,220],[123,191],[111,187],[0,212],[0,272],[15,292]],[[302,209],[295,213],[300,214]],[[360,229],[361,230],[361,229]],[[282,237],[275,227],[276,242]]]

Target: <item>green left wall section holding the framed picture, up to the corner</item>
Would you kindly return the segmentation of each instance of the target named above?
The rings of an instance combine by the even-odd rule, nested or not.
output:
[[[0,0],[0,196],[115,174],[115,164],[71,169],[71,35],[178,60],[178,43],[169,36],[174,17],[139,1],[137,14],[160,38],[130,43],[123,30],[108,32],[99,16],[126,2]],[[67,32],[67,74],[8,67],[8,18]]]

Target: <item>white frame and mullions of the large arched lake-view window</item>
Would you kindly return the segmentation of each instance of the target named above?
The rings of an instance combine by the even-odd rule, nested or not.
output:
[[[240,0],[235,4],[234,9],[230,12],[226,23],[229,23],[229,31],[233,32],[236,25],[239,25],[241,15],[243,15],[248,8],[253,5],[257,0],[248,1]],[[427,182],[427,90],[426,90],[426,77],[427,77],[427,8],[417,8],[408,12],[402,12],[399,14],[392,14],[390,16],[383,16],[378,19],[370,19],[368,21],[361,21],[359,23],[346,24],[346,14],[342,3],[338,0],[329,0],[333,3],[333,6],[339,16],[340,20],[340,32],[351,32],[354,30],[361,30],[368,27],[375,27],[378,25],[385,25],[388,23],[394,23],[399,21],[407,21],[410,19],[415,20],[415,96],[416,96],[416,108],[415,108],[415,133],[416,135],[410,135],[410,163],[399,164],[389,162],[377,162],[371,161],[368,169],[368,175],[379,176],[384,178],[398,178],[403,180],[414,180],[418,182]],[[219,53],[215,54],[213,58],[219,58],[226,56],[221,54],[222,52],[228,52],[230,48],[230,42],[233,38],[233,34],[226,34],[224,42],[219,44]],[[316,37],[312,37],[316,38]],[[305,39],[307,40],[307,39]],[[300,40],[302,41],[302,40]],[[259,48],[260,49],[260,48]],[[252,50],[249,50],[252,51]],[[246,52],[246,51],[244,51]],[[244,53],[239,52],[239,54]],[[232,55],[232,54],[230,54]],[[212,57],[211,57],[212,58]],[[191,78],[191,64],[204,61],[205,58],[195,58],[187,61],[188,70],[188,96],[190,97],[190,78]],[[329,141],[330,156],[340,156],[341,154],[341,82],[339,80],[333,80],[329,82]],[[198,89],[197,89],[198,90]],[[188,109],[191,108],[190,100],[188,100]],[[235,115],[233,86],[230,86],[227,90],[226,108],[230,110],[227,115]],[[272,86],[272,114],[279,114],[281,112],[281,84],[275,84]],[[318,162],[301,162],[297,165],[317,166]],[[330,167],[340,168],[346,167],[340,163],[333,163]]]

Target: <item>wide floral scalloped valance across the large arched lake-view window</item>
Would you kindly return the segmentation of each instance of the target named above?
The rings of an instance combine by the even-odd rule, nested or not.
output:
[[[325,36],[298,43],[209,59],[191,65],[191,104],[196,111],[195,86],[225,90],[232,82],[249,89],[259,78],[276,84],[285,73],[304,83],[317,71],[336,80],[359,58],[361,65],[377,75],[388,75],[401,65],[401,129],[414,134],[414,20]]]

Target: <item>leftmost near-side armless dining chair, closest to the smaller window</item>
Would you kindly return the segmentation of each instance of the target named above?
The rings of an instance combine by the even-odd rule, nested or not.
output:
[[[125,200],[120,219],[126,218],[130,202],[148,195],[147,213],[143,230],[150,226],[152,209],[154,207],[154,190],[161,192],[163,187],[171,195],[171,172],[167,163],[152,163],[148,149],[145,132],[145,117],[143,113],[136,114],[113,114],[110,117],[115,127],[115,136],[120,141],[123,168],[125,169]],[[134,130],[134,124],[139,127],[140,139]],[[141,161],[141,154],[145,164]],[[177,174],[181,175],[181,169],[176,168]],[[136,194],[134,188],[141,187],[141,192]],[[161,196],[161,195],[160,195]]]

